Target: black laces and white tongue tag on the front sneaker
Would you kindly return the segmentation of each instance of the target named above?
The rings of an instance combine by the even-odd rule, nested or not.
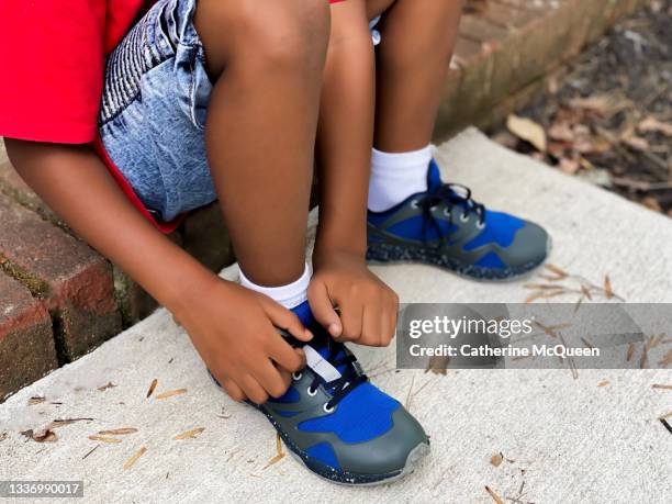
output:
[[[343,343],[335,341],[331,336],[315,335],[311,344],[304,344],[298,339],[284,335],[288,343],[296,348],[303,348],[307,365],[314,372],[315,378],[309,387],[309,394],[314,395],[320,385],[332,394],[332,399],[325,403],[324,410],[331,413],[343,399],[362,383],[369,381],[362,372],[357,358]],[[325,362],[328,370],[325,372]],[[294,379],[300,379],[302,372],[294,373]]]

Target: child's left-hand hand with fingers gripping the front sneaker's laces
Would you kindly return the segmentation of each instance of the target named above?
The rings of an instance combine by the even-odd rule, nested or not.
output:
[[[217,278],[180,313],[177,320],[201,358],[236,401],[261,404],[269,396],[280,397],[290,373],[305,366],[303,350],[292,348],[276,327],[302,341],[313,335],[296,315],[262,294]]]

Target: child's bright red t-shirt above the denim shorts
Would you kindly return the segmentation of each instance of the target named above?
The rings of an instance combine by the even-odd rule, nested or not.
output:
[[[332,3],[343,0],[329,0]],[[144,0],[0,0],[0,136],[59,144],[97,138],[104,59]],[[119,170],[100,153],[138,210]]]

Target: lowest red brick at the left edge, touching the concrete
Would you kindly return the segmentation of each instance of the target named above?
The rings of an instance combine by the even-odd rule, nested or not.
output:
[[[0,402],[57,367],[48,312],[0,271]]]

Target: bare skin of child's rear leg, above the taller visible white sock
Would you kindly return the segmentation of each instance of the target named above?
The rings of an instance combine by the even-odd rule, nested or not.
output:
[[[369,0],[369,15],[389,0]],[[461,0],[395,0],[378,47],[374,146],[405,153],[429,144],[450,64]]]

